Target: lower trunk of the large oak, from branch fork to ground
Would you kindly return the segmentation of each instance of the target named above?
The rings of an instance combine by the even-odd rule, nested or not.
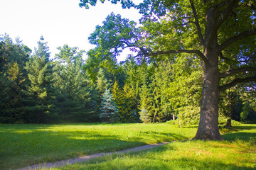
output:
[[[201,113],[196,137],[193,140],[223,140],[218,130],[219,72],[218,54],[211,52],[209,62],[203,63]]]

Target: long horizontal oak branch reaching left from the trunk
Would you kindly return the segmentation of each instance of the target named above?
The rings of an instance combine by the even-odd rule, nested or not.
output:
[[[189,53],[189,54],[197,54],[204,62],[208,62],[206,56],[200,50],[169,50],[169,51],[160,51],[160,52],[152,52],[146,54],[146,56],[154,56],[154,55],[169,55],[169,54],[178,54],[178,53]]]

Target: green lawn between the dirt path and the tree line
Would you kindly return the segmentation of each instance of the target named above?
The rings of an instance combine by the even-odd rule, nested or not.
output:
[[[0,125],[0,169],[185,140],[195,134],[196,128],[167,124]]]

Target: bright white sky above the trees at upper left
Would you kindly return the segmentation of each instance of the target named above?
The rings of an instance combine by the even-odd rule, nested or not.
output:
[[[99,1],[99,0],[98,0]],[[139,2],[141,0],[136,0]],[[0,35],[7,33],[13,40],[19,37],[31,50],[37,47],[41,35],[50,47],[51,56],[57,47],[68,44],[80,50],[90,50],[87,38],[97,25],[102,25],[112,11],[139,23],[139,12],[123,9],[121,4],[97,3],[90,9],[80,8],[80,0],[0,0]],[[124,60],[124,52],[117,60]]]

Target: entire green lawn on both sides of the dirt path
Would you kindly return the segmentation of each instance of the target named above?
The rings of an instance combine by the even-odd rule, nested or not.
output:
[[[82,154],[112,152],[151,143],[186,140],[196,134],[196,129],[196,127],[176,128],[175,125],[169,124],[0,125],[0,169],[16,169],[42,162],[55,162],[61,159],[78,157]],[[231,149],[231,152],[233,145],[238,148],[238,151],[239,148],[245,151],[250,149],[252,152],[247,153],[247,157],[251,159],[251,163],[247,164],[250,164],[248,165],[249,168],[252,167],[252,163],[254,162],[255,164],[255,159],[252,156],[255,156],[256,125],[242,125],[230,130],[223,129],[222,131],[233,133],[223,136],[227,141],[213,142],[213,148],[219,148],[225,154],[227,153],[223,148],[227,147]],[[240,140],[241,136],[246,139]],[[145,162],[145,167],[149,167],[155,162],[156,169],[158,166],[161,169],[160,165],[164,159],[166,160],[164,163],[167,169],[168,166],[173,166],[169,164],[170,162],[174,164],[175,159],[171,155],[176,155],[177,162],[191,162],[192,164],[196,159],[193,154],[207,156],[208,145],[212,146],[211,144],[196,141],[176,142],[165,147],[159,147],[151,152],[142,152],[138,155],[124,154],[116,157],[104,157],[97,159],[95,162],[89,162],[90,164],[74,166],[81,166],[81,169],[85,169],[85,167],[88,169],[102,169],[100,167],[105,167],[105,164],[122,167],[122,164],[125,163],[127,166],[124,166],[124,169],[138,169],[139,162]],[[193,152],[195,146],[198,147]],[[192,158],[190,159],[188,159],[187,150],[191,150]],[[158,156],[160,159],[156,159]],[[230,154],[230,157],[232,156],[233,154]],[[151,157],[155,161],[147,164],[145,161],[147,157]],[[209,158],[203,157],[203,160],[200,159],[200,161],[202,164],[206,164],[207,159],[210,159],[210,156]],[[225,158],[223,157],[223,159]],[[247,162],[247,159],[245,162]],[[110,169],[112,169],[112,166],[110,166]],[[238,167],[243,166],[245,165],[242,164],[242,166],[239,165]],[[77,168],[66,166],[63,169]]]

